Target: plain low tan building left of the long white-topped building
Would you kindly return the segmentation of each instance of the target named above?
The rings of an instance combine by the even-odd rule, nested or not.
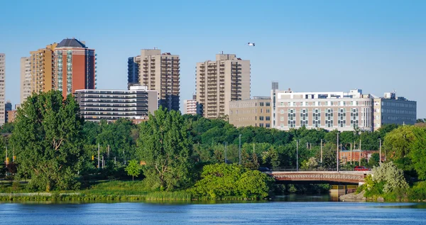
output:
[[[271,128],[271,97],[230,101],[229,124]]]

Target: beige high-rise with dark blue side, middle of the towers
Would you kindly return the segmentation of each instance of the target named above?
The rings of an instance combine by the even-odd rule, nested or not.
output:
[[[180,58],[170,53],[161,54],[159,49],[143,49],[141,55],[128,60],[129,86],[136,81],[158,92],[160,106],[179,111],[180,99]],[[134,79],[138,71],[137,79]]]

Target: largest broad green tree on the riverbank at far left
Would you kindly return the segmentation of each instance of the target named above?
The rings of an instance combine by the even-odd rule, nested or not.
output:
[[[84,160],[82,118],[72,95],[33,94],[18,109],[11,136],[18,175],[29,176],[33,190],[70,190]]]

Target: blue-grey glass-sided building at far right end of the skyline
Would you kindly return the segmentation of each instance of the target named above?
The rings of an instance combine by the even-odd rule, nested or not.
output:
[[[378,130],[385,124],[415,124],[417,120],[417,102],[397,97],[394,92],[374,98],[373,126]]]

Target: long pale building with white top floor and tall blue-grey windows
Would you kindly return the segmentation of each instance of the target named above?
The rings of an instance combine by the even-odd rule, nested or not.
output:
[[[361,89],[350,92],[271,90],[274,128],[324,128],[332,131],[373,130],[373,97]],[[275,107],[275,110],[274,110]]]

